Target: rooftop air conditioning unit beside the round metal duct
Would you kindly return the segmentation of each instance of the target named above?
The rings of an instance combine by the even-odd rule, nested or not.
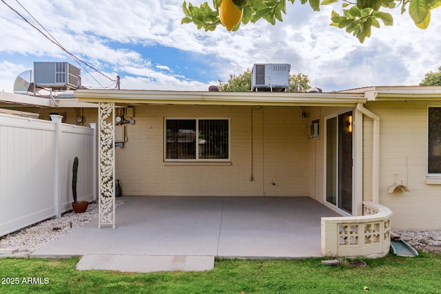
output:
[[[52,90],[76,90],[80,87],[81,70],[68,62],[34,62],[35,87]]]

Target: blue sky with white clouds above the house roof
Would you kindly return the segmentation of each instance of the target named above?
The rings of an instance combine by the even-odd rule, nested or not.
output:
[[[289,63],[291,74],[306,74],[324,92],[380,85],[418,85],[441,66],[441,8],[426,30],[400,9],[393,26],[372,28],[359,43],[331,23],[331,10],[287,3],[283,22],[264,20],[236,32],[214,32],[181,25],[183,0],[3,0],[30,23],[50,32],[85,67],[82,85],[114,89],[205,91],[254,63]],[[189,0],[194,6],[203,1]],[[188,2],[188,1],[187,1]],[[212,1],[208,0],[212,5]],[[25,8],[25,9],[23,9]],[[32,17],[27,12],[32,14]],[[41,29],[41,27],[39,27]],[[42,30],[42,29],[41,29]],[[34,61],[62,61],[79,67],[18,14],[0,2],[0,91],[13,92],[14,80]]]

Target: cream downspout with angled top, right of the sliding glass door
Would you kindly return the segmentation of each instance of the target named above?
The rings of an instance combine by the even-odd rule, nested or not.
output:
[[[357,110],[373,120],[373,146],[372,146],[372,201],[380,200],[380,117],[362,104],[357,104]]]

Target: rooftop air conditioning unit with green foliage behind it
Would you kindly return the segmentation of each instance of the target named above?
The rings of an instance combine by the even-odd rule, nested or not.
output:
[[[287,92],[289,89],[288,63],[254,63],[251,74],[252,91]]]

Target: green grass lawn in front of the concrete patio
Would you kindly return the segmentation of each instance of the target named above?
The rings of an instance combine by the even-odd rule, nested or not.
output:
[[[321,260],[216,260],[214,269],[205,272],[121,273],[77,271],[78,258],[7,258],[0,260],[1,282],[17,277],[19,283],[0,284],[0,293],[322,294],[365,293],[364,286],[369,293],[441,293],[441,255],[388,255],[364,260],[365,267],[351,267],[349,262],[323,266]],[[41,284],[23,283],[23,278],[32,277]]]

